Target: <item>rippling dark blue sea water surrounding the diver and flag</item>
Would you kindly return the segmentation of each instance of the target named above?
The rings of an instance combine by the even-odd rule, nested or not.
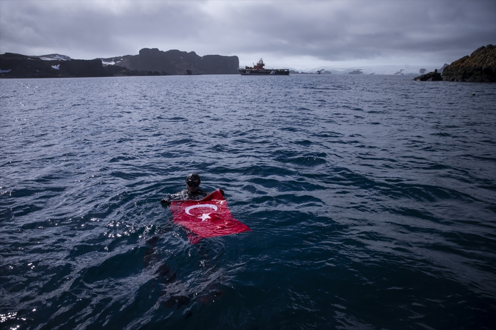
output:
[[[0,86],[2,329],[495,329],[495,84]],[[192,171],[251,232],[188,242]]]

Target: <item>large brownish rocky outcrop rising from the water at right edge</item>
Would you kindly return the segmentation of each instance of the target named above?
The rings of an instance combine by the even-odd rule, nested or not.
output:
[[[496,46],[477,48],[470,56],[464,56],[446,66],[442,79],[447,81],[496,82]]]

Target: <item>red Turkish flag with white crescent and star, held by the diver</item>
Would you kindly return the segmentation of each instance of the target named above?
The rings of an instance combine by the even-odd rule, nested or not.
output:
[[[226,199],[218,189],[201,200],[174,200],[170,208],[174,222],[186,227],[191,243],[200,238],[248,232],[251,229],[234,219]]]

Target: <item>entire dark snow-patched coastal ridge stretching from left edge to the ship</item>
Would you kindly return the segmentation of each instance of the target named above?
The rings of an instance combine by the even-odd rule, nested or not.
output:
[[[1,78],[239,74],[238,66],[238,56],[198,56],[194,51],[161,51],[157,48],[143,48],[138,55],[92,60],[71,59],[61,54],[0,55]]]

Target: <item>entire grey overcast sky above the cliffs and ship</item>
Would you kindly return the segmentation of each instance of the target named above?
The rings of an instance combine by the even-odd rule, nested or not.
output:
[[[237,55],[240,66],[429,69],[488,44],[496,0],[0,0],[0,53],[93,59],[147,47]]]

